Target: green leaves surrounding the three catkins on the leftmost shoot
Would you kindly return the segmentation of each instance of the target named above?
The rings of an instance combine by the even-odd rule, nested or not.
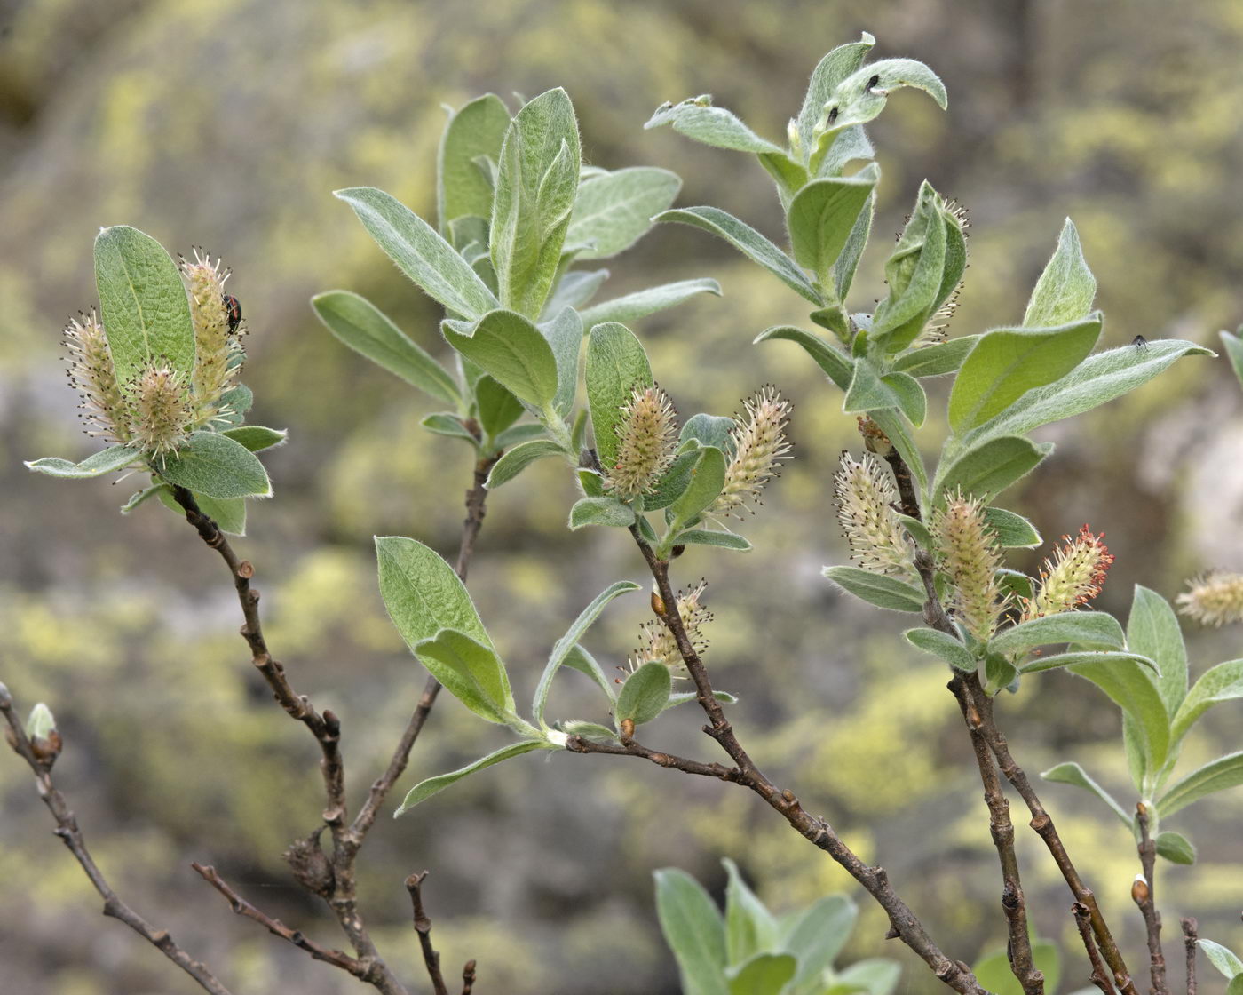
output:
[[[94,243],[96,287],[116,381],[123,393],[153,361],[184,382],[195,368],[194,326],[177,264],[150,235],[128,225],[103,229]],[[285,442],[283,430],[244,425],[251,393],[236,386],[220,398],[224,417],[190,433],[172,453],[148,453],[135,443],[112,445],[80,463],[45,456],[26,465],[61,478],[102,476],[116,470],[150,474],[150,486],[121,509],[129,514],[158,496],[178,514],[172,488],[191,491],[200,510],[226,532],[245,534],[246,497],[268,497],[272,486],[256,451]]]

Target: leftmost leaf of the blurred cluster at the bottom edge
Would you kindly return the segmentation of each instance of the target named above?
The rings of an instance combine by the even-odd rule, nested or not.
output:
[[[659,665],[659,664],[658,664]],[[725,980],[725,922],[704,887],[685,871],[655,873],[656,917],[674,951],[686,995],[730,995]]]

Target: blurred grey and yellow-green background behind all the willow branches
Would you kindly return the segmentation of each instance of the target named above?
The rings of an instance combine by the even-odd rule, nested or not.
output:
[[[680,204],[721,205],[779,240],[771,183],[753,160],[669,129],[644,132],[643,122],[663,101],[712,92],[779,139],[818,58],[861,30],[876,36],[875,57],[930,63],[950,111],[904,91],[870,129],[884,182],[855,310],[881,296],[889,233],[927,177],[973,221],[951,335],[1018,321],[1068,214],[1099,280],[1103,345],[1140,333],[1216,347],[1217,331],[1243,320],[1236,0],[0,0],[0,679],[24,709],[36,700],[53,709],[66,740],[57,782],[112,883],[232,990],[362,989],[231,915],[189,868],[213,863],[272,915],[344,945],[281,861],[318,821],[318,754],[255,687],[221,565],[154,502],[118,517],[132,480],[57,481],[21,465],[96,448],[78,430],[58,358],[63,321],[94,303],[96,231],[133,224],[173,251],[203,245],[234,269],[229,286],[252,330],[250,420],[291,433],[266,459],[276,497],[252,502],[250,535],[236,545],[256,566],[268,639],[295,685],[343,719],[357,807],[424,683],[384,616],[370,539],[410,535],[452,555],[471,460],[461,444],[419,428],[428,400],[312,316],[310,295],[355,290],[446,352],[436,307],[329,192],[375,185],[431,216],[441,104],[564,86],[584,162],[675,169],[685,180]],[[805,323],[802,301],[723,243],[681,226],[655,230],[612,264],[603,296],[665,279],[722,284],[723,298],[636,325],[684,417],[733,410],[766,381],[796,403],[797,459],[743,526],[756,550],[690,547],[676,567],[684,583],[709,580],[707,663],[717,687],[741,696],[731,709],[740,736],[779,784],[884,863],[952,956],[973,960],[1004,942],[1004,924],[946,674],[897,638],[907,619],[848,601],[819,576],[846,556],[829,479],[843,448],[858,451],[854,419],[794,346],[750,345],[769,325]],[[931,445],[942,430],[933,414],[921,435]],[[1117,556],[1105,608],[1125,616],[1136,582],[1173,598],[1202,568],[1243,568],[1243,393],[1224,359],[1181,361],[1044,438],[1057,454],[1006,504],[1050,541],[1084,522],[1105,531]],[[471,591],[520,700],[595,591],[644,580],[626,536],[563,529],[573,496],[563,471],[537,464],[493,495],[471,566]],[[1034,570],[1047,552],[1011,565]],[[587,641],[607,665],[636,644],[645,601],[617,602]],[[1238,628],[1188,626],[1187,634],[1193,675],[1241,655]],[[607,718],[573,675],[551,711]],[[1003,695],[998,713],[1029,772],[1078,760],[1134,803],[1117,711],[1093,687],[1050,673]],[[1185,749],[1185,770],[1239,749],[1239,716],[1232,705],[1211,711]],[[699,724],[671,711],[645,739],[716,759]],[[503,741],[444,698],[394,800]],[[1132,969],[1146,974],[1126,830],[1075,789],[1048,785],[1043,795]],[[29,771],[7,751],[0,803],[6,995],[198,991],[99,918]],[[1160,864],[1175,964],[1180,915],[1243,946],[1241,818],[1243,791],[1234,791],[1163,826],[1199,847],[1193,867]],[[1062,944],[1062,990],[1074,991],[1089,969],[1070,897],[1016,821],[1035,929]],[[426,984],[401,881],[430,868],[425,898],[446,974],[477,958],[481,995],[675,993],[651,871],[677,866],[720,893],[721,856],[776,910],[856,892],[743,791],[624,759],[538,755],[400,821],[382,817],[359,862],[360,899],[411,990]],[[860,928],[842,963],[895,956],[901,991],[942,990],[885,943],[880,910],[858,897]],[[1202,966],[1202,991],[1219,991],[1219,981]]]

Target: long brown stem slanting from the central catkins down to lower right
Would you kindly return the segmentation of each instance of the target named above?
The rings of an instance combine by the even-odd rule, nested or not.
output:
[[[970,995],[982,995],[984,989],[981,988],[971,969],[962,961],[947,958],[932,942],[924,924],[907,908],[906,903],[899,898],[889,883],[889,876],[885,869],[883,867],[871,867],[859,859],[825,820],[807,812],[793,791],[777,787],[756,766],[755,761],[752,761],[747,751],[742,747],[742,744],[738,743],[730,721],[725,718],[721,703],[713,696],[707,669],[687,637],[686,627],[677,611],[677,598],[669,583],[669,562],[656,557],[636,525],[630,527],[630,534],[634,536],[634,541],[639,546],[639,551],[643,553],[651,576],[656,581],[656,588],[664,602],[665,612],[660,616],[660,619],[665,623],[677,644],[682,662],[686,664],[691,680],[695,683],[696,699],[700,708],[704,709],[705,715],[707,715],[709,724],[704,726],[704,731],[720,744],[730,759],[733,760],[737,769],[736,775],[731,775],[725,780],[732,780],[759,795],[796,831],[828,853],[846,873],[863,884],[869,894],[888,913],[891,927],[890,934],[901,938],[932,969],[932,973],[937,978],[956,991],[963,993],[963,995],[968,995],[968,993]]]

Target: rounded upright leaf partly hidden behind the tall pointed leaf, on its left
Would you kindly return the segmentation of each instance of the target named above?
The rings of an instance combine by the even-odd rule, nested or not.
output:
[[[492,215],[492,184],[475,160],[486,155],[498,162],[508,127],[510,111],[495,93],[476,97],[449,116],[436,157],[441,234],[447,235],[449,223],[457,218],[474,215],[482,220]]]

